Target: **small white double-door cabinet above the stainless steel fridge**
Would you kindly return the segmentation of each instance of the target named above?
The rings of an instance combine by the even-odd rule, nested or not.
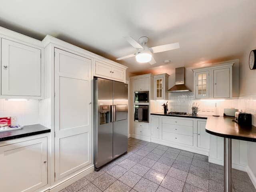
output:
[[[94,76],[126,82],[126,66],[110,64],[103,60],[94,61]]]

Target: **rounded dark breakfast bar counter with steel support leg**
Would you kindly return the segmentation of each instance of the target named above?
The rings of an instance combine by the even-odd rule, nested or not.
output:
[[[232,139],[256,142],[256,127],[240,125],[233,118],[207,116],[206,132],[224,138],[224,192],[232,192]]]

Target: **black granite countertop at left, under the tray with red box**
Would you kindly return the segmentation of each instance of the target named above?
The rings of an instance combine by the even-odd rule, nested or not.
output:
[[[40,124],[27,125],[22,129],[0,132],[0,142],[48,132],[51,132],[51,130]]]

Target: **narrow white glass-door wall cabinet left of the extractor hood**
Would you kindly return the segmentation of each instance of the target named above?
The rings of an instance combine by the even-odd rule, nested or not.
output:
[[[154,76],[154,99],[168,99],[168,74],[159,74]]]

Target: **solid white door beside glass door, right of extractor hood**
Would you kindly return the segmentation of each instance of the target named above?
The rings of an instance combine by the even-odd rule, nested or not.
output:
[[[213,70],[214,78],[214,98],[230,97],[230,77],[229,68]]]

